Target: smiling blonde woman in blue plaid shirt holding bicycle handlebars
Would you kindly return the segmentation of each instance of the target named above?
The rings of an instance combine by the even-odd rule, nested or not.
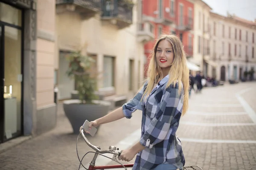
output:
[[[141,139],[122,150],[119,160],[131,161],[137,154],[133,170],[182,170],[185,160],[175,133],[188,99],[189,70],[183,45],[176,35],[163,35],[154,46],[148,79],[140,91],[121,108],[90,122],[89,128],[130,119],[134,111],[142,110]]]

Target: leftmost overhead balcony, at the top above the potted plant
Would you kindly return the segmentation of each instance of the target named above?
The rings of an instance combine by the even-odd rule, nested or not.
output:
[[[100,2],[101,0],[56,0],[56,13],[73,11],[85,20],[101,11]]]

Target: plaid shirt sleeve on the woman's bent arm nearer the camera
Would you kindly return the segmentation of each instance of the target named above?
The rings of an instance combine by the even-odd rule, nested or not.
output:
[[[167,88],[159,106],[157,106],[154,118],[140,139],[140,144],[144,147],[152,148],[155,144],[163,141],[171,128],[173,120],[177,119],[177,122],[179,121],[182,105],[183,101],[178,89]]]

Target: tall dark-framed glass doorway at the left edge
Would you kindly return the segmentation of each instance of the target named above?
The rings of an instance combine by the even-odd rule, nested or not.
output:
[[[22,129],[22,11],[0,3],[0,143]]]

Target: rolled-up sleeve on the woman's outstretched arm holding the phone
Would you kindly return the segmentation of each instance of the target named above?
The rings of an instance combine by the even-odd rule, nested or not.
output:
[[[136,110],[142,110],[143,108],[143,101],[141,101],[141,98],[143,96],[143,91],[145,90],[147,85],[147,82],[143,85],[143,88],[134,96],[133,99],[126,102],[124,105],[122,105],[122,110],[127,119],[131,119],[132,113]]]

